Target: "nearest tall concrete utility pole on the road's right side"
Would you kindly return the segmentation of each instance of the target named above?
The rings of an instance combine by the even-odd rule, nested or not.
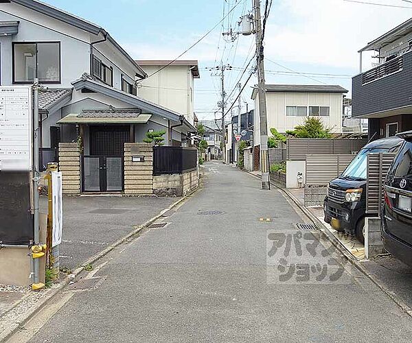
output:
[[[258,61],[258,95],[260,117],[260,166],[262,169],[262,189],[271,189],[269,182],[268,124],[266,119],[266,86],[264,83],[264,47],[260,0],[253,0],[255,9],[256,58]]]

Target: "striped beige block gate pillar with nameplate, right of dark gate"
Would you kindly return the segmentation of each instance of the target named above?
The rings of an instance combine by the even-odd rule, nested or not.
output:
[[[144,162],[133,162],[132,156],[144,156]],[[148,143],[124,144],[124,194],[153,194],[153,147]]]

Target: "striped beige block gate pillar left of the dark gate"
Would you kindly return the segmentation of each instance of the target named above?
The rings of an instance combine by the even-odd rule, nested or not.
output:
[[[58,165],[62,172],[64,196],[79,196],[80,151],[77,143],[60,143],[58,145]]]

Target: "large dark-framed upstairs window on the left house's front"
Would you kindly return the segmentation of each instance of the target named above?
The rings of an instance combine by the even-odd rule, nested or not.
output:
[[[13,43],[13,82],[60,83],[60,43]]]

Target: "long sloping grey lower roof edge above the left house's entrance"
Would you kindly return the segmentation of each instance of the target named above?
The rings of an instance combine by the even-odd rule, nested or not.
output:
[[[72,84],[76,91],[88,89],[89,91],[100,93],[108,97],[113,97],[121,102],[125,102],[126,104],[139,108],[142,112],[151,113],[152,115],[159,115],[166,119],[170,119],[171,121],[175,121],[176,123],[182,123],[189,132],[196,132],[196,128],[189,121],[187,121],[183,115],[180,115],[169,108],[165,108],[155,104],[154,102],[138,97],[137,95],[126,93],[117,88],[113,88],[111,86],[107,86],[106,84],[102,84],[101,82],[95,81],[88,74],[84,74],[82,78],[72,82]]]

